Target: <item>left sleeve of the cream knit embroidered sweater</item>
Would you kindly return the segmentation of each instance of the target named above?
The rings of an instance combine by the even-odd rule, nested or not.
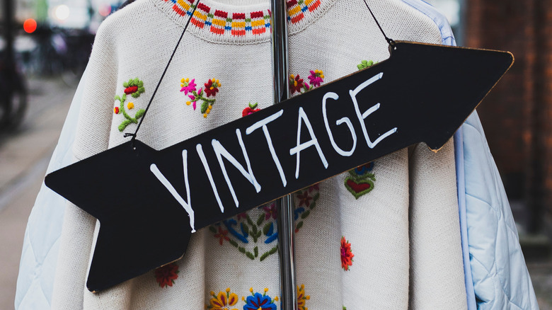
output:
[[[110,18],[96,35],[88,63],[79,125],[74,143],[76,161],[108,149],[117,79],[113,26]],[[52,309],[82,309],[96,219],[67,204],[54,280]]]

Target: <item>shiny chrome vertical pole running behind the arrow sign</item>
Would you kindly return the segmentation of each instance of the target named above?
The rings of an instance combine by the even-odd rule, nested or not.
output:
[[[287,62],[286,1],[272,0],[272,69],[274,72],[274,104],[289,98]],[[277,202],[278,253],[280,254],[280,288],[282,310],[297,310],[294,262],[293,197],[287,195]]]

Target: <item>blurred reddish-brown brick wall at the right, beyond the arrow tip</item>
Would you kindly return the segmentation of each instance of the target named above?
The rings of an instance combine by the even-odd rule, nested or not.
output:
[[[552,0],[466,0],[465,21],[466,46],[514,54],[478,113],[510,200],[539,231],[552,223]]]

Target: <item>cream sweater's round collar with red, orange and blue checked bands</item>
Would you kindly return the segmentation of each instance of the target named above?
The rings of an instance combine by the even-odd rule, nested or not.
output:
[[[178,25],[184,26],[193,0],[151,0]],[[287,0],[289,34],[304,30],[320,18],[336,0]],[[268,0],[201,0],[188,26],[193,33],[209,42],[255,44],[270,41],[270,1]]]

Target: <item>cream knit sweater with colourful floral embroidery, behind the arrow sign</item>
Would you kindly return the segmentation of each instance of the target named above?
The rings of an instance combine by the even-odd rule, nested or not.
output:
[[[403,2],[369,4],[389,37],[440,42],[435,23]],[[356,71],[363,59],[389,57],[362,0],[290,0],[288,6],[290,73],[299,74],[299,85],[300,79],[316,85],[316,77],[328,83]],[[241,117],[250,102],[272,103],[269,8],[268,0],[201,1],[146,115],[142,142],[162,149]],[[134,132],[124,113],[132,119],[146,107],[186,11],[188,0],[138,0],[101,25],[77,159]],[[192,81],[197,96],[180,91]],[[211,87],[219,92],[200,96],[199,88]],[[121,109],[114,97],[123,93]],[[197,109],[186,104],[190,96],[201,97]],[[201,113],[213,98],[209,113]],[[121,163],[120,186],[127,168]],[[418,145],[296,193],[299,309],[466,309],[454,171],[451,142],[437,154]],[[347,180],[364,180],[371,190],[357,199],[352,193],[361,190],[347,188]],[[273,211],[260,207],[200,229],[175,264],[93,294],[85,282],[99,224],[69,205],[52,309],[280,309]]]

